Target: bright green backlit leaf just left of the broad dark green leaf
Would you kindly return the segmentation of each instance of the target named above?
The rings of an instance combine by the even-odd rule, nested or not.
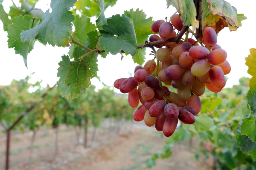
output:
[[[75,16],[76,20],[73,21],[73,25],[75,26],[75,31],[72,33],[74,40],[79,42],[80,44],[84,44],[85,40],[87,38],[87,33],[91,30],[94,30],[96,26],[90,22],[90,18],[88,18],[85,15],[79,15]],[[70,58],[73,58],[73,52],[76,48],[76,44],[71,43],[70,45],[70,51],[68,52]]]

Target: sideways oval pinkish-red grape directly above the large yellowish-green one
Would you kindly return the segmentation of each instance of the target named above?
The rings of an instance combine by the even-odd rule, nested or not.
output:
[[[207,59],[209,50],[202,46],[193,46],[189,49],[189,56],[194,59]]]

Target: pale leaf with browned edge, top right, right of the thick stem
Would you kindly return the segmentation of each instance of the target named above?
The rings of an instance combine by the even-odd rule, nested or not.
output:
[[[207,0],[207,2],[212,14],[218,14],[223,17],[230,26],[238,27],[239,21],[237,19],[237,10],[235,7],[224,0]]]

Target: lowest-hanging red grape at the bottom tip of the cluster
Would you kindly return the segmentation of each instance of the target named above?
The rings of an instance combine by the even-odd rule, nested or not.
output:
[[[175,132],[175,129],[178,125],[178,119],[170,119],[166,118],[164,124],[163,124],[163,135],[166,137],[172,136],[172,134]]]

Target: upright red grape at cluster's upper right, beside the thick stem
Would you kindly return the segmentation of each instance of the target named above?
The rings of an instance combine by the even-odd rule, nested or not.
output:
[[[217,44],[217,34],[212,27],[204,28],[203,40],[204,44],[208,46],[214,46]]]

